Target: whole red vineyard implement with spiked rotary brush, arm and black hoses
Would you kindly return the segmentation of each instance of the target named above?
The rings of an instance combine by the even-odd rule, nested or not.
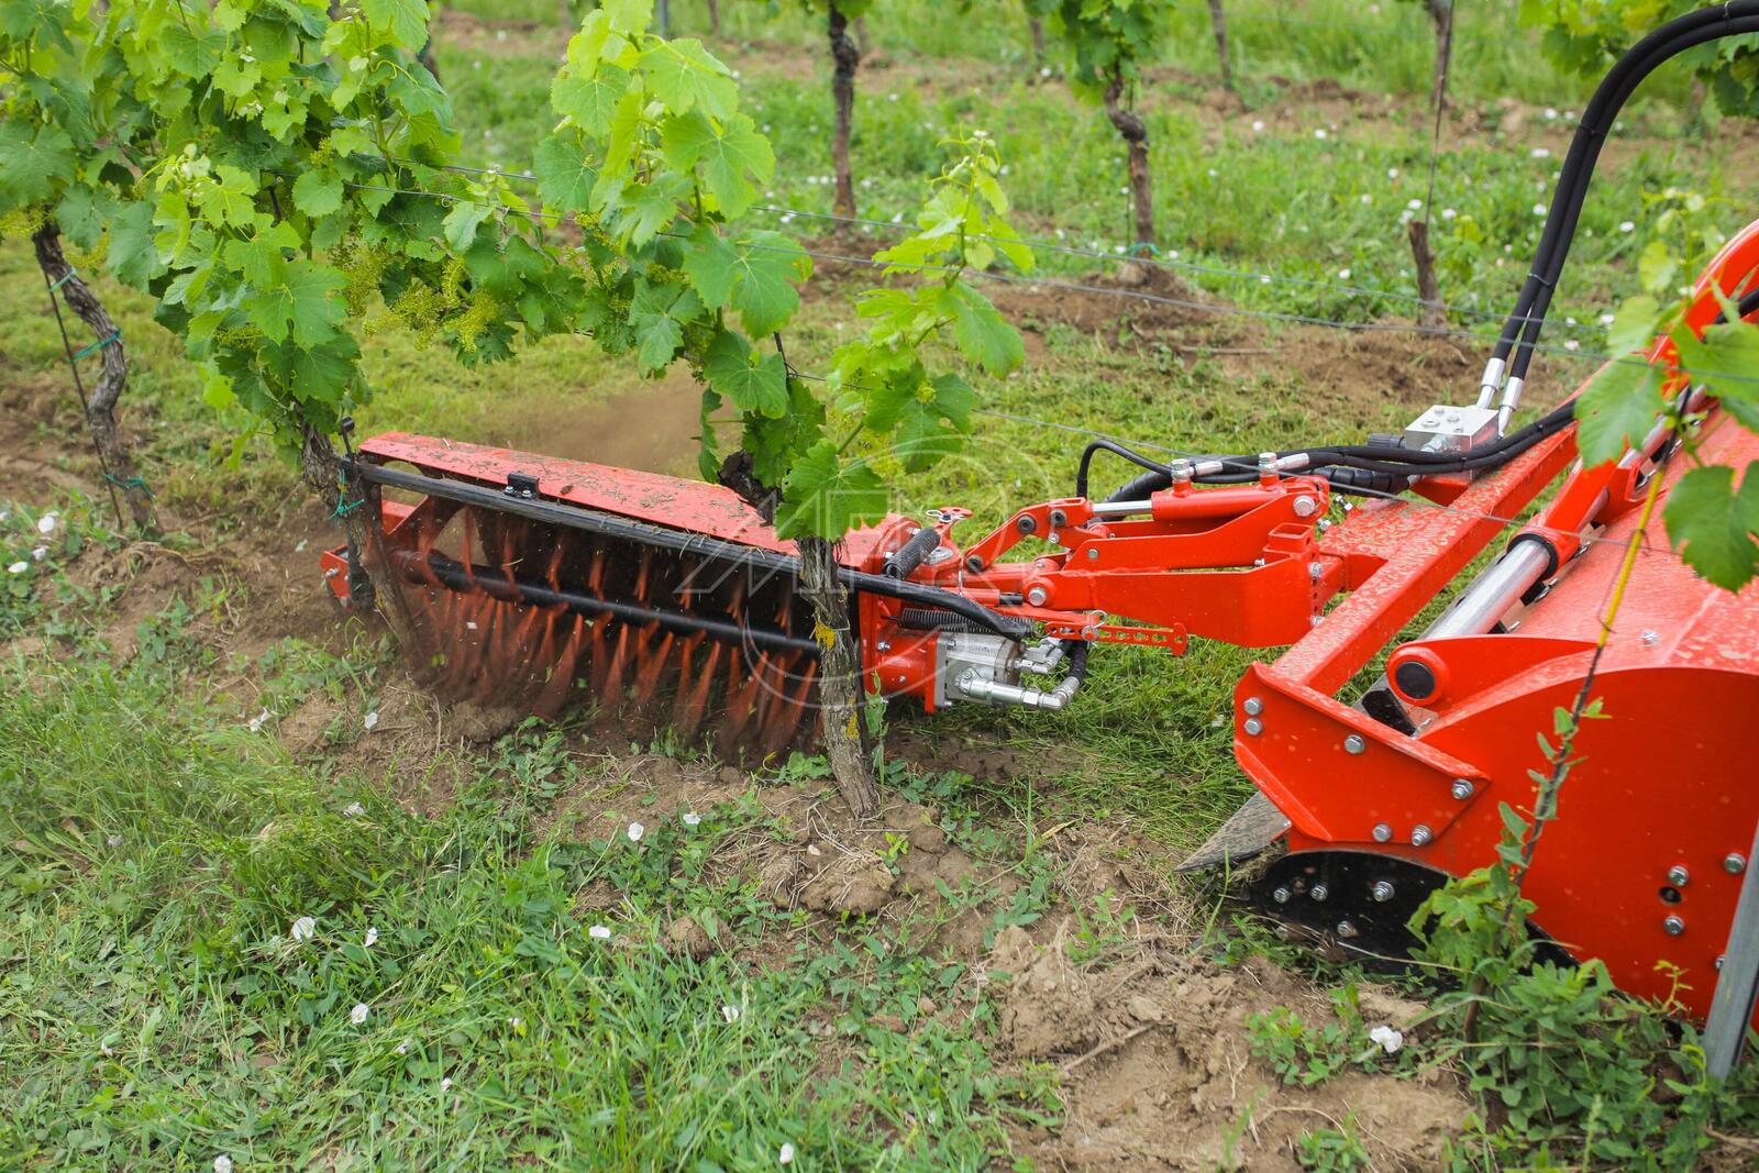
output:
[[[1594,468],[1576,461],[1573,401],[1511,431],[1588,174],[1643,76],[1745,32],[1759,32],[1755,4],[1682,18],[1601,86],[1471,403],[1437,404],[1402,436],[1252,457],[1161,464],[1098,441],[1073,496],[974,540],[962,542],[962,508],[851,531],[841,575],[869,689],[931,712],[1061,710],[1096,647],[1284,647],[1235,689],[1235,754],[1259,793],[1193,863],[1281,842],[1256,886],[1266,909],[1346,948],[1402,951],[1439,883],[1493,862],[1500,804],[1532,805],[1534,735],[1583,684],[1638,505],[1687,463],[1660,417]],[[1726,304],[1759,315],[1759,223],[1704,269],[1689,325],[1701,332]],[[1648,357],[1671,366],[1673,345]],[[1759,461],[1759,436],[1690,371],[1666,394],[1696,420],[1701,459]],[[1094,499],[1101,450],[1143,473]],[[536,712],[582,693],[658,705],[686,732],[712,707],[723,737],[765,749],[814,712],[818,644],[793,543],[732,489],[410,434],[364,441],[348,477],[378,524],[364,550],[325,556],[331,586],[347,598],[369,573],[417,661],[452,691]],[[1363,499],[1333,524],[1344,494]],[[1384,674],[1351,689],[1383,654]],[[1536,923],[1634,994],[1673,994],[1659,964],[1676,967],[1703,1015],[1759,820],[1747,728],[1759,725],[1759,587],[1706,584],[1657,533],[1594,695],[1611,719],[1578,737],[1581,763],[1527,879]]]

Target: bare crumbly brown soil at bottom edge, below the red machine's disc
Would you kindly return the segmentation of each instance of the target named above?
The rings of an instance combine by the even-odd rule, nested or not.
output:
[[[987,962],[1004,1052],[1062,1073],[1062,1129],[1015,1134],[1040,1168],[1291,1169],[1300,1138],[1330,1127],[1353,1129],[1376,1168],[1428,1169],[1471,1110],[1446,1076],[1349,1073],[1284,1087],[1252,1057],[1247,1018],[1295,1006],[1323,1024],[1330,1008],[1274,965],[1219,969],[1149,951],[1122,973],[1084,969],[1066,934],[1036,941],[1004,929]],[[1407,1027],[1420,1009],[1374,990],[1363,1001],[1369,1025]]]

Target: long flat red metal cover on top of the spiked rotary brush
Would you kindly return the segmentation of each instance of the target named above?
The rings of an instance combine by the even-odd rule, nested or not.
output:
[[[538,478],[538,492],[554,501],[670,529],[704,533],[777,554],[795,552],[793,542],[777,538],[756,510],[723,485],[410,433],[373,436],[361,445],[361,452],[378,463],[403,461],[424,473],[491,489],[505,485],[508,473],[529,473]]]

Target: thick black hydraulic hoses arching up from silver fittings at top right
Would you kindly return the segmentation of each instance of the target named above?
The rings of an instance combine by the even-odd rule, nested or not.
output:
[[[1608,70],[1571,139],[1532,271],[1493,352],[1497,359],[1507,362],[1507,378],[1527,376],[1558,276],[1569,257],[1588,179],[1625,100],[1645,77],[1673,56],[1708,40],[1743,33],[1759,33],[1759,0],[1731,0],[1673,19],[1643,37]]]

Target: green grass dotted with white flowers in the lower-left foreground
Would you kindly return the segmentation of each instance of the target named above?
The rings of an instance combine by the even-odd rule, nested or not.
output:
[[[962,964],[858,925],[814,946],[716,865],[776,834],[751,795],[639,844],[538,832],[598,767],[531,730],[419,818],[195,700],[186,617],[127,667],[0,665],[9,1161],[948,1169],[1055,1110],[992,1066]],[[702,962],[663,946],[686,914]]]

